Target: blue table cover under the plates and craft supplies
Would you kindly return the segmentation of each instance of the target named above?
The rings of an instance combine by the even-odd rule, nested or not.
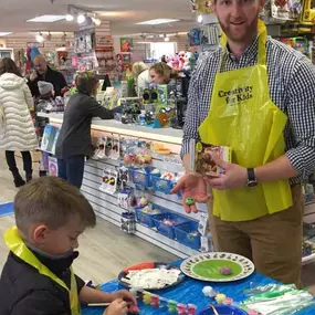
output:
[[[179,266],[180,263],[181,261],[177,261],[174,263],[174,265]],[[155,291],[151,293],[158,294],[159,296],[162,296],[169,300],[174,300],[178,303],[195,304],[198,307],[198,311],[200,311],[203,307],[208,307],[210,302],[213,303],[212,298],[206,297],[202,294],[202,288],[207,285],[212,286],[219,293],[223,293],[227,296],[232,297],[233,301],[235,302],[242,302],[246,298],[243,293],[245,288],[250,288],[251,285],[255,285],[255,286],[266,285],[270,283],[277,283],[277,282],[262,274],[259,274],[259,273],[253,273],[251,276],[249,276],[245,280],[238,281],[238,282],[231,282],[231,283],[202,282],[202,281],[197,281],[197,280],[193,280],[187,276],[181,284],[175,287]],[[108,293],[116,292],[122,288],[126,288],[119,285],[117,280],[105,283],[101,287],[103,291],[106,291]],[[167,311],[153,308],[151,306],[144,305],[141,302],[138,303],[138,306],[140,308],[140,315],[169,314]],[[82,309],[82,315],[103,315],[103,313],[104,313],[104,307],[83,307]],[[314,314],[315,314],[315,307],[312,307],[305,311],[300,311],[298,313],[295,313],[294,315],[314,315]]]

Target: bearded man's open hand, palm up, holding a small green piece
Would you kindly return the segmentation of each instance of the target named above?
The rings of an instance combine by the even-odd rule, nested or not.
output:
[[[207,191],[207,183],[201,175],[189,172],[183,175],[177,185],[172,188],[170,193],[177,193],[181,191],[182,193],[182,206],[187,213],[198,212],[196,204],[188,206],[186,204],[186,198],[191,197],[196,202],[206,203],[211,195]]]

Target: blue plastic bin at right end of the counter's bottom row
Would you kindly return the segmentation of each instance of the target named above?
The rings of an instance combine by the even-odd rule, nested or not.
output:
[[[186,222],[174,228],[175,237],[178,242],[193,249],[200,250],[201,234],[198,232],[198,223],[195,221]],[[191,235],[191,232],[198,232],[198,235]]]

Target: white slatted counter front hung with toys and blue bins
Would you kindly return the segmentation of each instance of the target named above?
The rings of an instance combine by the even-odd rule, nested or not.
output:
[[[53,126],[62,124],[62,114],[40,115]],[[92,130],[95,154],[86,161],[82,191],[96,214],[180,258],[211,251],[206,204],[198,204],[199,213],[187,214],[181,196],[170,195],[183,174],[179,157],[182,130],[101,119],[93,119]],[[46,162],[55,175],[57,128],[50,134],[42,149],[50,153]],[[305,264],[315,260],[314,182],[309,182],[304,188]]]

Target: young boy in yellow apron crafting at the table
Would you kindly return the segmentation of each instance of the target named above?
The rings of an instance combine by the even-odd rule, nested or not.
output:
[[[125,315],[127,302],[136,304],[128,291],[101,292],[74,275],[77,238],[96,222],[77,188],[55,177],[30,181],[15,196],[14,213],[17,227],[4,234],[10,253],[0,315],[78,315],[80,304],[88,303],[111,303],[104,315]]]

